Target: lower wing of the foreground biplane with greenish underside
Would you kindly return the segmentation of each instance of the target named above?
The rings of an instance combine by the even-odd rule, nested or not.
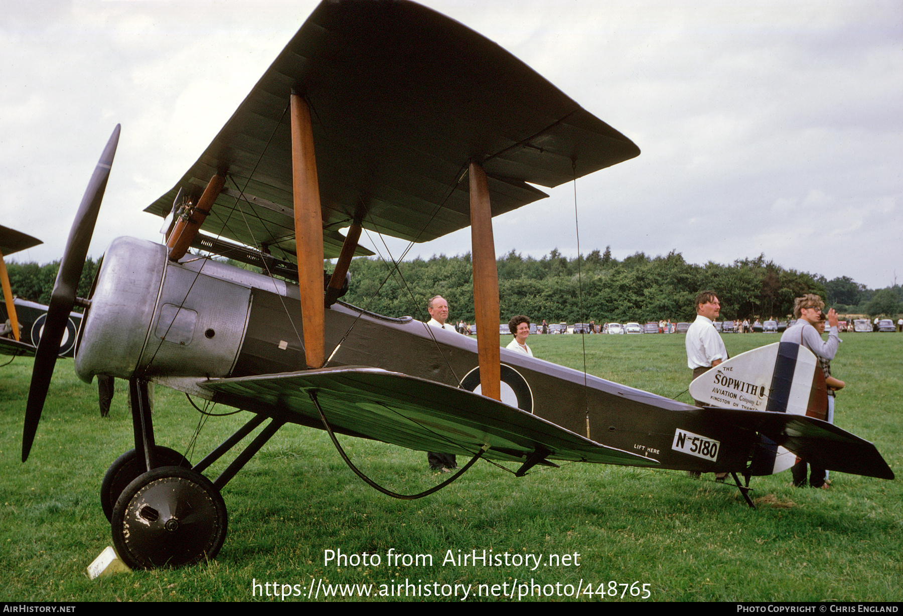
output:
[[[524,459],[657,466],[638,456],[574,434],[489,397],[382,369],[342,367],[200,383],[214,400],[287,421],[322,427],[308,392],[316,393],[337,432],[367,436],[409,449]],[[288,415],[286,415],[286,411]]]

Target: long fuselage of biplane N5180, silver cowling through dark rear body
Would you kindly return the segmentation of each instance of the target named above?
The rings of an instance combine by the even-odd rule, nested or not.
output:
[[[305,369],[302,321],[297,285],[209,258],[172,263],[163,246],[118,238],[98,273],[76,370],[88,382],[96,374],[139,376],[210,397],[198,387],[209,378]],[[410,317],[335,303],[326,310],[325,341],[327,366],[479,387],[477,341]],[[668,468],[744,469],[757,440],[712,425],[695,406],[543,359],[502,349],[501,362],[503,402]]]

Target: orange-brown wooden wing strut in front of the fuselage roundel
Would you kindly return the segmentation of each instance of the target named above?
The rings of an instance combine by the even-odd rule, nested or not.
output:
[[[501,400],[496,244],[492,238],[489,182],[477,163],[470,163],[470,248],[473,253],[473,308],[477,319],[479,387],[483,396]]]

